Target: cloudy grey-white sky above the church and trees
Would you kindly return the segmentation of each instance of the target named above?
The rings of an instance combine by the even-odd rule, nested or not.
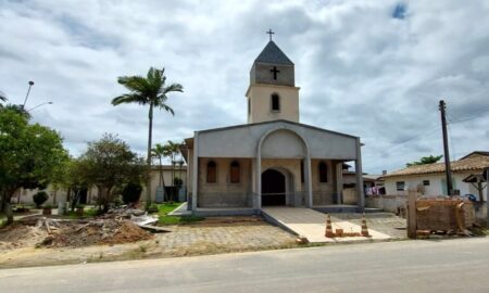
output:
[[[254,59],[274,41],[296,64],[301,123],[361,137],[363,169],[489,151],[489,1],[0,0],[0,91],[58,130],[74,156],[116,133],[145,154],[148,109],[113,106],[118,76],[165,68],[175,116],[153,141],[246,123]]]

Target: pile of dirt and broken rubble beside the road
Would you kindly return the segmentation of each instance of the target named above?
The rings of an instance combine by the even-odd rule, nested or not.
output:
[[[153,238],[149,231],[165,231],[151,226],[155,221],[156,217],[135,208],[112,209],[100,217],[79,220],[30,216],[0,229],[0,249],[130,243]]]

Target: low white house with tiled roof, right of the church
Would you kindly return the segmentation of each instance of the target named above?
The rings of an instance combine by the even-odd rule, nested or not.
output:
[[[489,152],[473,152],[459,161],[451,162],[452,183],[455,194],[474,194],[479,198],[476,186],[465,179],[473,180],[474,176],[480,176],[488,167]],[[409,188],[415,188],[424,195],[446,195],[448,192],[444,170],[444,163],[434,163],[392,171],[383,176],[386,193],[405,195]]]

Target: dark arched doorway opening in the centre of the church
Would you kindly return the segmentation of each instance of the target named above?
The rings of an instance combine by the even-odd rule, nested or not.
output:
[[[262,205],[286,205],[286,177],[278,170],[262,174]]]

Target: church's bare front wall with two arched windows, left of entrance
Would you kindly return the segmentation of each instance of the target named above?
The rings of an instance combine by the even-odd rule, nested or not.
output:
[[[206,182],[206,166],[213,161],[217,166],[215,183]],[[240,166],[239,183],[230,182],[230,164]],[[199,158],[198,207],[251,207],[251,160],[249,158]]]

